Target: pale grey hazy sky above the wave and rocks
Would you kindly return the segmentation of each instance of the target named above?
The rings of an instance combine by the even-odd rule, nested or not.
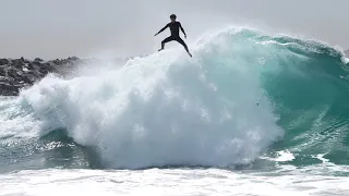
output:
[[[185,41],[230,24],[349,48],[349,0],[0,0],[0,58],[155,52],[169,29],[154,34],[171,13]]]

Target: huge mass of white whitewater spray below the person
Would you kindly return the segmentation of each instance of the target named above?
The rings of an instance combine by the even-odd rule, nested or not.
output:
[[[264,46],[251,53],[238,33],[202,39],[193,59],[179,47],[96,75],[49,75],[19,100],[43,134],[67,128],[105,167],[248,163],[282,131],[258,79]]]

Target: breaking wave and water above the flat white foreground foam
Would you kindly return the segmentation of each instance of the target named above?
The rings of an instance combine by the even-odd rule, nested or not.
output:
[[[229,28],[198,40],[193,59],[176,48],[49,75],[1,98],[0,172],[348,166],[348,69],[324,44]]]

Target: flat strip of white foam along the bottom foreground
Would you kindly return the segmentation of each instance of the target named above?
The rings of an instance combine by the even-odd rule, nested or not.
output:
[[[0,176],[0,195],[348,195],[348,176],[225,170],[38,170]]]

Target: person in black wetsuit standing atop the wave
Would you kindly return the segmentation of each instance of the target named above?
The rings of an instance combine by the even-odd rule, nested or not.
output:
[[[186,34],[185,34],[185,32],[184,32],[181,23],[176,21],[177,16],[176,16],[174,14],[171,14],[171,15],[170,15],[170,19],[171,19],[171,22],[168,23],[164,28],[161,28],[157,34],[154,35],[154,36],[157,36],[159,33],[164,32],[167,27],[169,27],[170,30],[171,30],[171,36],[167,37],[166,39],[164,39],[164,40],[161,41],[161,49],[159,49],[159,51],[160,51],[160,50],[164,50],[164,47],[165,47],[165,44],[166,44],[166,42],[176,40],[176,41],[178,41],[179,44],[181,44],[181,45],[184,47],[184,49],[186,50],[188,54],[189,54],[190,57],[192,57],[192,54],[189,52],[188,46],[185,45],[185,42],[183,41],[183,39],[179,36],[179,28],[181,28],[181,30],[183,32],[184,37],[185,37],[185,39],[186,39]]]

